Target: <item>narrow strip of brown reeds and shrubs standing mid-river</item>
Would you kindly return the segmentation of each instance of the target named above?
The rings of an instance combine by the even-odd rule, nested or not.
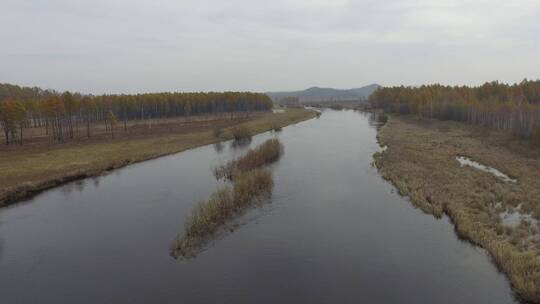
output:
[[[232,187],[225,187],[200,202],[185,221],[184,233],[171,247],[174,257],[194,257],[207,240],[227,221],[246,208],[272,195],[274,180],[272,172],[261,169],[276,162],[283,153],[283,145],[276,139],[268,139],[244,156],[228,162],[214,172],[217,179],[225,178]]]

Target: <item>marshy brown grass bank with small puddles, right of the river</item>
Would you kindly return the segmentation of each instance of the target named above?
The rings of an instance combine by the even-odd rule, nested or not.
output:
[[[481,127],[395,115],[378,139],[387,147],[375,154],[382,176],[423,211],[447,214],[460,237],[491,254],[521,297],[540,302],[538,147]]]

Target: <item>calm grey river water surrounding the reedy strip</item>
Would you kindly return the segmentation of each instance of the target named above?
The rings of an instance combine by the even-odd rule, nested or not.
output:
[[[0,210],[0,303],[515,303],[487,254],[372,167],[367,114],[325,110],[277,136],[272,201],[191,260],[169,246],[247,147],[210,145]]]

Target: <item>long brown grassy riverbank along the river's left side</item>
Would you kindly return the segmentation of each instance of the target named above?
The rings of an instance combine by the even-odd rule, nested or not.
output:
[[[286,109],[280,113],[224,120],[220,123],[219,137],[215,136],[215,124],[212,123],[198,124],[197,128],[188,127],[176,133],[157,133],[140,138],[109,138],[100,142],[3,151],[0,158],[0,207],[66,182],[229,140],[233,137],[232,130],[238,126],[246,126],[257,134],[314,118],[316,114],[306,109]]]

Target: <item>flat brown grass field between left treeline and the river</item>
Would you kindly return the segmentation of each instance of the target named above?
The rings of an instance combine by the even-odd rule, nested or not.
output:
[[[51,144],[34,130],[23,146],[0,148],[0,206],[29,197],[62,183],[100,175],[159,156],[228,140],[232,130],[247,127],[252,134],[284,127],[316,116],[306,109],[287,109],[282,113],[259,113],[250,117],[191,117],[132,123],[127,131],[118,123],[115,137],[97,130],[90,139]],[[216,128],[220,129],[216,137]],[[84,134],[84,126],[81,127]],[[26,136],[26,135],[25,135]]]

